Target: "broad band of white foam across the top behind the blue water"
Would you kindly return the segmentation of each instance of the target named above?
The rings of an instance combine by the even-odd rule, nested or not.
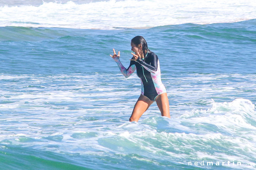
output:
[[[256,17],[255,0],[3,1],[0,27],[151,28],[239,22]]]

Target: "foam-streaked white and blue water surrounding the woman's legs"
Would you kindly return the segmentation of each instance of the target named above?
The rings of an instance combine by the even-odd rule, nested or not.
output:
[[[220,77],[228,77],[229,84],[218,80]],[[239,81],[232,84],[230,79]],[[250,162],[248,155],[256,156],[255,105],[242,98],[210,100],[255,89],[255,75],[174,77],[172,85],[166,85],[178,96],[170,97],[171,119],[161,117],[154,103],[138,123],[128,122],[137,100],[127,86],[133,79],[126,79],[126,86],[115,79],[101,84],[107,82],[102,75],[82,74],[1,75],[0,80],[1,144],[90,157],[133,154],[134,159],[154,161],[160,157],[165,162],[210,158],[246,163]],[[113,90],[112,84],[119,84],[118,90]],[[209,88],[212,90],[202,90]],[[137,89],[139,96],[139,84]],[[203,100],[209,102],[203,105]],[[197,101],[202,103],[200,109]],[[190,103],[191,108],[183,109],[183,103]]]

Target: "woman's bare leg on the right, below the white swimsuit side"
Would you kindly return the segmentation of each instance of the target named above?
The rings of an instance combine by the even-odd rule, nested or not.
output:
[[[170,107],[167,93],[162,93],[161,95],[158,95],[155,101],[156,104],[158,105],[161,115],[170,118]]]

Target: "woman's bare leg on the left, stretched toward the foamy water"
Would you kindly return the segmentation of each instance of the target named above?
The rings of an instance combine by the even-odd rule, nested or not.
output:
[[[149,108],[152,103],[153,101],[149,100],[148,97],[140,95],[133,108],[133,112],[129,121],[138,121],[142,114]]]

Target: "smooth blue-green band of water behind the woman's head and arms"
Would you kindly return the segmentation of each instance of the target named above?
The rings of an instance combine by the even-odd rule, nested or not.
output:
[[[161,58],[162,73],[255,74],[255,26],[256,19],[124,30],[0,27],[0,71],[111,73],[109,66],[118,71],[106,57],[112,53],[111,48],[121,51],[121,61],[129,65],[130,40],[142,35]]]

